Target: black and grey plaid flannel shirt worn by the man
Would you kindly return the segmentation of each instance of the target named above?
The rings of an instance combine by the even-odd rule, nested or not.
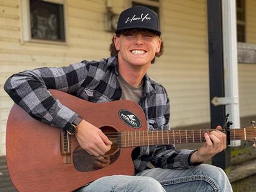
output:
[[[94,103],[119,100],[122,94],[118,83],[118,59],[81,61],[69,67],[27,70],[11,76],[5,91],[32,117],[62,129],[78,116],[53,98],[47,89],[58,89]],[[169,129],[169,98],[162,85],[144,77],[140,106],[145,112],[149,130]],[[133,154],[136,172],[151,162],[156,167],[181,169],[189,164],[192,150],[176,151],[174,145],[140,147]]]

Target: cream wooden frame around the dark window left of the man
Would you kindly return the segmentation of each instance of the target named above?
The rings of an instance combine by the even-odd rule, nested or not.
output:
[[[63,17],[64,17],[64,36],[65,41],[51,41],[45,39],[32,39],[31,35],[31,25],[30,25],[30,2],[29,0],[21,0],[21,28],[22,37],[21,44],[25,43],[42,43],[51,45],[68,45],[68,35],[67,35],[67,7],[65,5],[65,0],[42,0],[48,3],[56,3],[63,5]]]

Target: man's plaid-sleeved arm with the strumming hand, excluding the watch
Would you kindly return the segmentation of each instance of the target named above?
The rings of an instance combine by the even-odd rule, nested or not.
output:
[[[76,63],[69,67],[27,70],[8,78],[5,91],[30,116],[66,130],[78,114],[52,97],[47,89],[77,94],[83,89],[81,83],[85,81],[88,69],[85,63]],[[85,120],[80,122],[76,137],[81,147],[94,156],[103,155],[111,148],[112,142],[107,136]]]

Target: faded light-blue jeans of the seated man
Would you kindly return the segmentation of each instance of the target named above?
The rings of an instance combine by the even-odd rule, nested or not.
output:
[[[135,176],[104,176],[82,187],[81,192],[125,191],[232,191],[226,173],[213,165],[190,169],[147,169]]]

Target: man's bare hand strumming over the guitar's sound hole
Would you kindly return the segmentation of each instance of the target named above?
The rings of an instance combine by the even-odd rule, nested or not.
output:
[[[78,125],[76,138],[80,146],[90,155],[104,155],[111,149],[111,140],[98,127],[85,120]]]

